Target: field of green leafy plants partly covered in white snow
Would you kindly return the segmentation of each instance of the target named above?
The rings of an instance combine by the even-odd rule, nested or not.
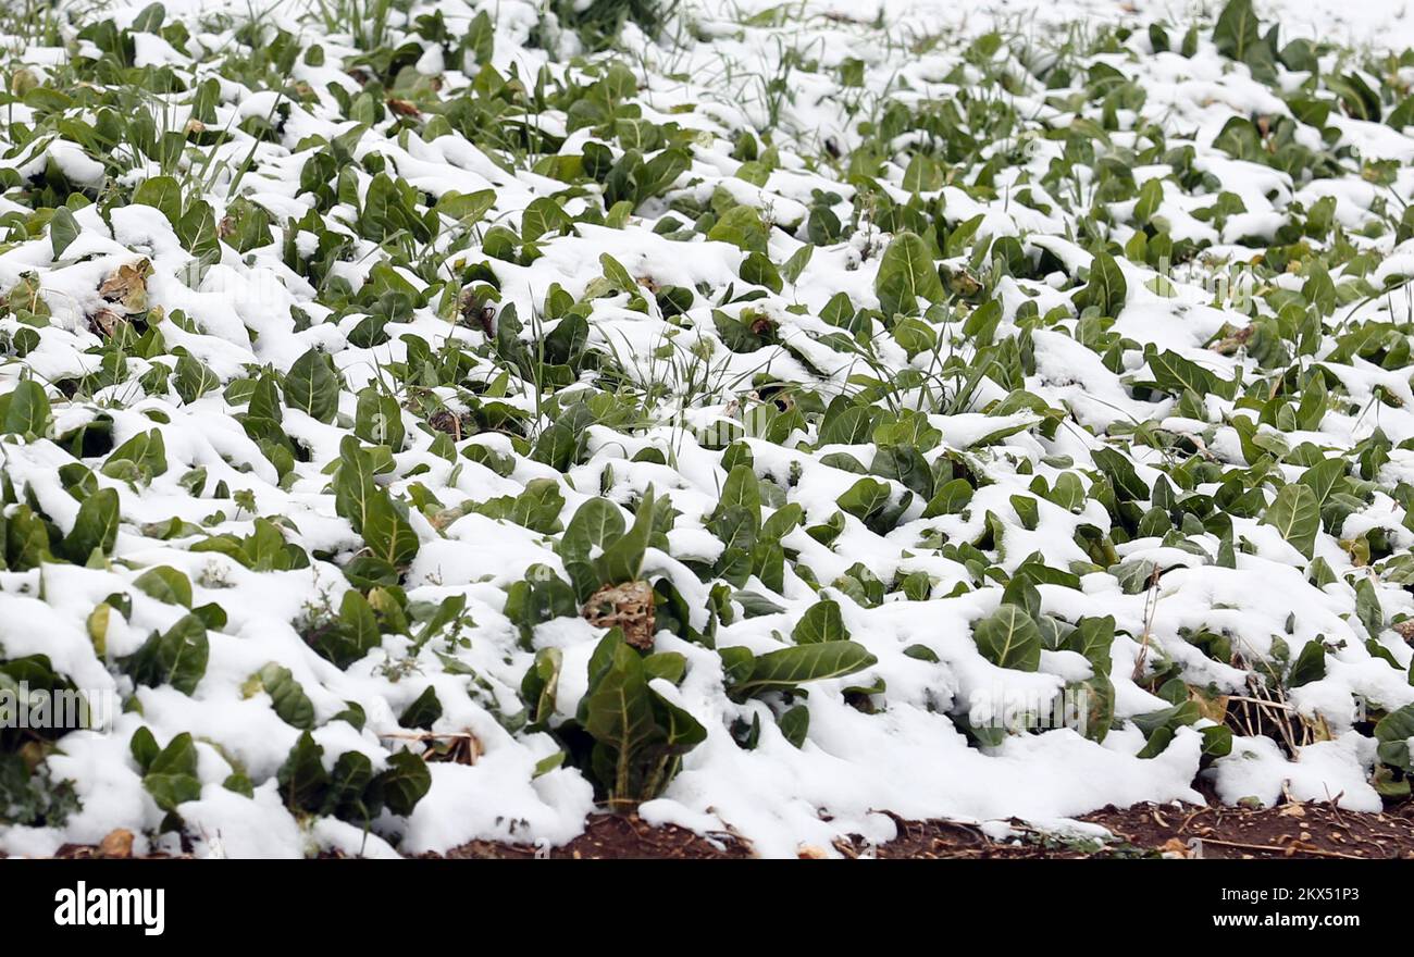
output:
[[[1407,796],[1408,7],[8,4],[0,852]]]

